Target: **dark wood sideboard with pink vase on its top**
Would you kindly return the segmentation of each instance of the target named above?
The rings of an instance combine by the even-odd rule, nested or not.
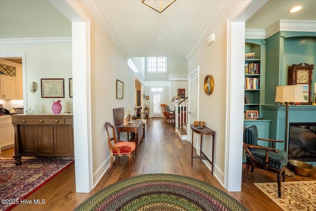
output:
[[[22,156],[74,157],[73,114],[12,115],[15,164]]]

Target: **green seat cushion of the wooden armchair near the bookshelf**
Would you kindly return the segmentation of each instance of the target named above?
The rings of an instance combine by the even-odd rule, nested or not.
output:
[[[265,164],[266,162],[266,150],[263,149],[253,149],[251,154],[260,163]],[[278,153],[269,151],[269,167],[274,169],[282,169],[282,167],[287,165],[287,155],[286,152],[278,150]]]

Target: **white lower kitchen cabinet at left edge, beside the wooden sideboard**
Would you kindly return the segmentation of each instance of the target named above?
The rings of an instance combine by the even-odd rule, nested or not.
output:
[[[0,117],[0,147],[1,150],[14,146],[14,127],[11,116]]]

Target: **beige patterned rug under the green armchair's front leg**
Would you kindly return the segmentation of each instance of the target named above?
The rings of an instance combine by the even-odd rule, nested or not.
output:
[[[254,183],[284,211],[316,211],[316,181],[282,182],[282,198],[277,183]]]

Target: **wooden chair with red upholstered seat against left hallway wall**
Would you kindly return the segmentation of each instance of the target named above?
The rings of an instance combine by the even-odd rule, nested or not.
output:
[[[109,127],[112,127],[112,136],[110,136]],[[128,155],[129,157],[129,173],[131,173],[132,172],[131,171],[132,154],[134,154],[133,158],[135,162],[135,148],[136,148],[135,142],[118,140],[116,137],[115,128],[111,123],[106,122],[105,128],[108,133],[108,145],[109,145],[109,150],[111,153],[111,164],[110,164],[109,173],[113,166],[113,157],[114,156],[120,157],[120,156],[126,156],[126,155]],[[112,144],[112,141],[114,142],[114,144]]]

